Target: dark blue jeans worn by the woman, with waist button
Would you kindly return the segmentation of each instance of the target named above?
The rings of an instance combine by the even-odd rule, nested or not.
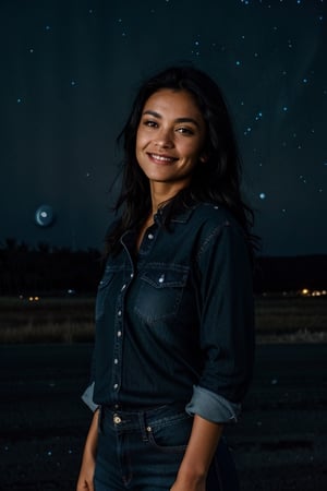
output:
[[[192,430],[184,408],[113,411],[101,408],[95,470],[96,491],[169,491]],[[233,460],[221,441],[207,491],[239,491]]]

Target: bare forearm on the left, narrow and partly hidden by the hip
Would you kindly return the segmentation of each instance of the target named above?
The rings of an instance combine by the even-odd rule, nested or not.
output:
[[[94,491],[94,471],[98,443],[99,410],[94,414],[86,438],[76,491]]]

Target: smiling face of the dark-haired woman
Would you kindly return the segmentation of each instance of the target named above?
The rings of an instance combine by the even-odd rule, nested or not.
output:
[[[136,158],[152,183],[187,185],[202,155],[204,118],[186,91],[162,88],[144,105],[136,135]]]

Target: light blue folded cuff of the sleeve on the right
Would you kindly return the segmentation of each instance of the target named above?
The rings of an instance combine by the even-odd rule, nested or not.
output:
[[[230,423],[238,421],[241,404],[231,403],[207,388],[194,385],[192,399],[185,409],[191,416],[198,415],[216,423]]]

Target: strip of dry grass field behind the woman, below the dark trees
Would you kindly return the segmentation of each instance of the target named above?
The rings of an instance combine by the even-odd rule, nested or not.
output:
[[[84,343],[94,336],[92,297],[0,298],[0,343]],[[257,343],[327,342],[327,297],[255,299]]]

